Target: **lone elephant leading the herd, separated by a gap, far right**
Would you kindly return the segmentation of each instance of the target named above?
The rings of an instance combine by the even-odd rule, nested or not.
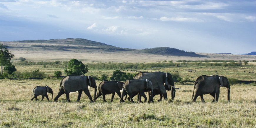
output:
[[[192,102],[195,102],[197,97],[200,96],[202,102],[205,102],[203,94],[210,94],[214,99],[212,102],[218,102],[220,95],[220,86],[227,88],[227,100],[230,102],[230,84],[227,77],[213,75],[202,75],[198,77],[194,84],[194,90],[192,95]],[[195,91],[196,89],[196,91]],[[194,97],[195,91],[195,97]],[[194,97],[194,98],[193,98]]]

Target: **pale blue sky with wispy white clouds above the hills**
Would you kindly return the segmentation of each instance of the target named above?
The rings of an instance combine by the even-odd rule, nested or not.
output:
[[[0,41],[66,38],[250,53],[256,51],[256,1],[0,0]]]

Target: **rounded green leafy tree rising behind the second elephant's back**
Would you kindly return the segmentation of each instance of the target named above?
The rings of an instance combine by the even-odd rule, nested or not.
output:
[[[87,67],[77,59],[71,59],[68,62],[68,67],[64,70],[67,75],[84,75],[88,72]]]

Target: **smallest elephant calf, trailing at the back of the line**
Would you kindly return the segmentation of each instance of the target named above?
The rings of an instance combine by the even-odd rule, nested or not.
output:
[[[42,100],[44,99],[44,96],[46,97],[46,99],[49,101],[49,98],[48,98],[48,95],[47,95],[47,92],[48,93],[51,93],[51,99],[52,99],[52,95],[53,95],[53,92],[52,92],[52,89],[50,87],[48,87],[47,85],[44,87],[44,86],[36,86],[34,89],[33,89],[33,95],[32,95],[32,99],[33,100],[34,98],[36,98],[36,101],[37,101],[37,96],[39,95],[43,95],[42,97]]]

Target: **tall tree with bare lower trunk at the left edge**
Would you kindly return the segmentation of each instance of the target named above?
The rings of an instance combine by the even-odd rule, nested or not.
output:
[[[1,65],[2,75],[3,75],[3,66],[10,64],[11,58],[13,57],[14,57],[14,54],[11,54],[9,52],[9,49],[6,48],[6,46],[4,46],[3,44],[0,44],[0,65]]]

